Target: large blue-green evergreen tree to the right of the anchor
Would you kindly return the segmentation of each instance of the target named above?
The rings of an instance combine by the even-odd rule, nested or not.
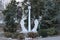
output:
[[[44,0],[44,10],[42,10],[43,14],[43,28],[53,27],[56,22],[56,5],[53,0]]]

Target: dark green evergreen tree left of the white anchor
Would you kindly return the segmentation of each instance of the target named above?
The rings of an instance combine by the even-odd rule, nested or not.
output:
[[[4,27],[5,32],[16,32],[17,24],[15,23],[14,20],[14,18],[16,17],[16,13],[17,13],[16,1],[12,0],[11,3],[9,3],[6,9],[3,11],[6,24],[6,26]]]

